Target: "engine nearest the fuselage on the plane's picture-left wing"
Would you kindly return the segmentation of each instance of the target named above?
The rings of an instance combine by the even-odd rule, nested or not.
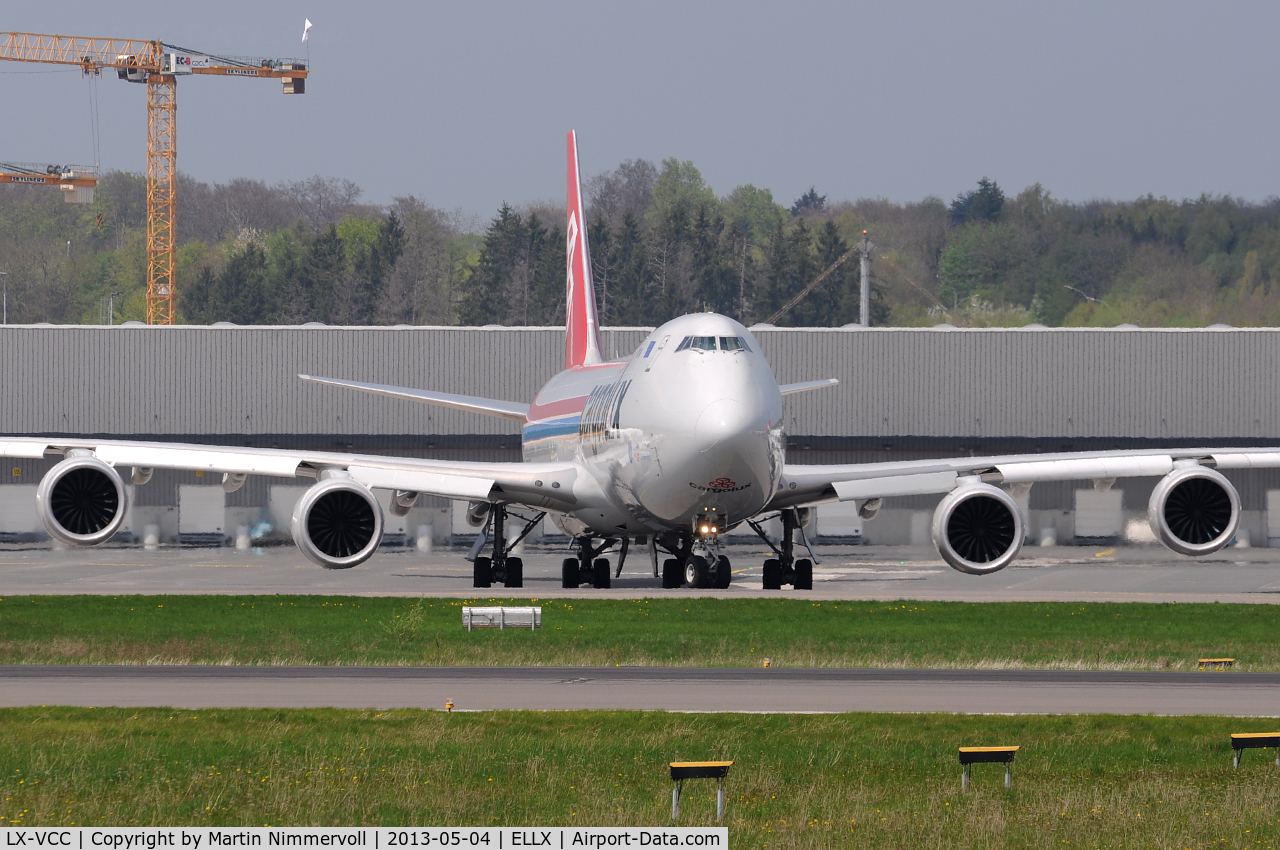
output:
[[[349,570],[369,559],[383,541],[383,506],[362,484],[329,477],[293,506],[293,541],[325,570]]]

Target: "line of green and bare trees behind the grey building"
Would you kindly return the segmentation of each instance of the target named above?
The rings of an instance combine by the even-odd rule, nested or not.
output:
[[[840,326],[859,316],[856,252],[873,246],[873,325],[1280,325],[1280,200],[1071,204],[992,179],[950,202],[790,206],[718,195],[690,161],[631,160],[585,184],[603,324],[692,311],[745,324]],[[10,323],[145,316],[146,183],[114,172],[92,205],[0,187]],[[488,221],[417,197],[361,202],[349,180],[269,186],[179,177],[179,317],[192,324],[558,325],[564,210],[503,204]],[[114,293],[114,298],[113,298]]]

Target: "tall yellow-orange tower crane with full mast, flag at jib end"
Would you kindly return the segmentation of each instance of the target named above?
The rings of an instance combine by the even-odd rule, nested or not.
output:
[[[78,65],[99,76],[115,68],[120,79],[147,87],[147,324],[172,325],[178,312],[174,280],[174,211],[178,178],[178,77],[211,74],[283,79],[285,95],[306,91],[298,59],[248,59],[186,50],[163,41],[82,38],[32,32],[0,33],[0,59]]]

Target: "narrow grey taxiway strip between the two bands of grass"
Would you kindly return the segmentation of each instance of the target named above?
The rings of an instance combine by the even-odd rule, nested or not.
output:
[[[1280,716],[1280,673],[692,667],[0,667],[0,705]]]

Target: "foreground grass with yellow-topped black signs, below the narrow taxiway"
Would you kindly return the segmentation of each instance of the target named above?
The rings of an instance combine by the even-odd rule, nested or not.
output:
[[[23,708],[0,827],[668,822],[672,759],[727,758],[731,845],[1271,846],[1274,753],[1228,718]],[[1023,746],[1014,790],[956,750]],[[984,769],[986,768],[986,769]],[[714,819],[686,785],[682,822]]]

